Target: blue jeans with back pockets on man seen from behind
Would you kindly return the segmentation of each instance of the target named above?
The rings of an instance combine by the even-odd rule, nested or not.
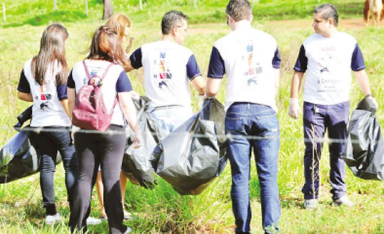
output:
[[[276,179],[280,136],[276,112],[264,105],[234,103],[226,112],[225,132],[232,136],[228,139],[228,156],[236,233],[250,231],[249,177],[252,147],[261,188],[263,229],[266,233],[278,230],[281,211]],[[252,136],[256,139],[247,139]]]

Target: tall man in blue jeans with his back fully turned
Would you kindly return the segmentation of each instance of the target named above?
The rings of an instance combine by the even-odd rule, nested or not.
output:
[[[225,132],[231,135],[228,157],[235,232],[250,232],[249,171],[253,148],[261,182],[262,225],[266,233],[274,233],[278,232],[281,213],[276,181],[280,139],[275,102],[280,56],[276,40],[251,27],[253,16],[247,0],[230,0],[226,14],[232,32],[214,43],[206,95],[217,94],[226,73]]]

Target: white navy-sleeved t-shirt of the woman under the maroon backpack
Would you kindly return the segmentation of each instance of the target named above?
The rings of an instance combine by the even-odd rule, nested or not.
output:
[[[111,63],[104,60],[86,59],[85,64],[91,77],[94,75],[102,77]],[[85,72],[83,61],[81,61],[73,66],[68,78],[68,87],[75,88],[77,93],[86,84],[88,84],[88,76]],[[103,94],[104,104],[107,107],[108,113],[111,113],[117,94],[130,91],[132,91],[132,85],[124,69],[120,65],[112,65],[104,77],[101,86],[101,93]],[[119,102],[117,102],[113,111],[111,124],[124,125],[124,117]]]

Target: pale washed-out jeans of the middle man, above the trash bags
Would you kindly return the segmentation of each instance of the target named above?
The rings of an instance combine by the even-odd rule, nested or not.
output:
[[[151,115],[170,133],[192,117],[193,112],[191,107],[175,105],[152,108]]]

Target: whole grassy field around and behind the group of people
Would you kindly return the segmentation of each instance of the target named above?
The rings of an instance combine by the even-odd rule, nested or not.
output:
[[[58,11],[52,10],[52,0],[3,0],[9,5],[7,22],[0,23],[0,145],[15,131],[11,128],[15,117],[28,104],[16,98],[16,86],[20,71],[26,60],[38,51],[42,31],[49,22],[59,21],[69,31],[67,61],[69,66],[85,57],[91,34],[103,24],[101,0],[89,0],[90,14],[83,12],[83,1],[57,0]],[[197,0],[197,9],[192,0],[143,0],[144,11],[138,9],[138,0],[113,0],[115,12],[125,12],[132,21],[133,48],[160,39],[160,19],[169,9],[176,8],[190,15],[189,35],[185,46],[192,49],[203,76],[206,76],[210,49],[218,38],[229,32],[225,25],[226,1]],[[321,195],[317,210],[302,208],[300,192],[303,178],[303,133],[302,121],[288,116],[290,79],[302,41],[312,33],[311,17],[318,0],[260,0],[254,7],[252,25],[272,34],[278,41],[282,57],[280,91],[277,97],[278,118],[281,127],[278,184],[282,206],[279,227],[282,233],[384,233],[384,184],[379,181],[364,181],[347,169],[348,194],[356,204],[353,208],[332,207],[329,190],[329,158],[327,145],[321,160]],[[341,12],[339,30],[355,36],[365,55],[367,72],[372,91],[379,102],[377,116],[383,124],[384,112],[384,28],[368,26],[362,22],[364,0],[330,0]],[[360,26],[343,26],[346,18],[359,22]],[[361,20],[360,20],[361,18]],[[281,21],[276,21],[281,20]],[[360,20],[360,21],[359,21]],[[347,21],[345,21],[347,23]],[[346,25],[346,24],[344,24]],[[363,25],[363,26],[361,26]],[[128,74],[134,89],[144,94],[143,71]],[[196,93],[193,91],[193,107],[197,111]],[[220,88],[218,99],[223,103],[225,89]],[[355,80],[351,92],[351,110],[363,94]],[[252,168],[251,201],[253,233],[261,233],[261,208],[259,185],[255,167]],[[230,170],[227,166],[219,178],[198,196],[180,196],[164,180],[153,190],[129,183],[125,197],[128,211],[135,216],[127,225],[136,233],[230,233],[234,219],[229,196]],[[58,165],[55,174],[55,192],[58,211],[64,222],[44,225],[44,209],[41,203],[38,175],[0,185],[0,233],[69,233],[69,217],[64,172]],[[93,194],[91,214],[100,213],[96,193]],[[91,233],[107,233],[108,224],[89,227]]]

